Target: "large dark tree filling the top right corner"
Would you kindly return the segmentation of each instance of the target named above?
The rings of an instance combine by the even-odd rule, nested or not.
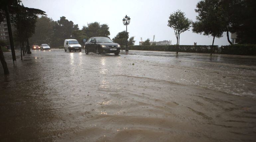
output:
[[[239,43],[256,44],[256,1],[255,0],[218,0],[218,13],[227,32],[236,32]]]

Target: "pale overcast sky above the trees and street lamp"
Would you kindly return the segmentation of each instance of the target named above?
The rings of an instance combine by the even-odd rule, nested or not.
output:
[[[131,18],[128,25],[130,36],[135,36],[135,45],[147,38],[155,41],[172,40],[176,44],[174,30],[167,26],[171,13],[180,9],[186,17],[195,21],[194,9],[199,0],[22,0],[26,7],[41,9],[48,17],[58,21],[64,16],[78,24],[79,28],[87,23],[108,24],[110,38],[126,30],[122,23],[125,15]],[[212,38],[193,33],[192,30],[181,34],[180,45],[211,45]],[[215,38],[214,45],[228,45],[226,34]]]

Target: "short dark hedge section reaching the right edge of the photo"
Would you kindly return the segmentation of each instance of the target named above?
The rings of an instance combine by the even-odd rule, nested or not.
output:
[[[256,56],[255,44],[232,44],[220,47],[220,54]]]

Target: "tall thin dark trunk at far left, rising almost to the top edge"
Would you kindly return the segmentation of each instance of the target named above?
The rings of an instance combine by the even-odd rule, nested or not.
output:
[[[16,61],[16,56],[15,56],[15,50],[14,50],[14,43],[13,43],[13,37],[12,37],[12,27],[11,27],[11,21],[10,21],[8,6],[5,7],[5,15],[6,15],[6,22],[7,22],[8,33],[9,33],[9,40],[10,40],[11,51],[12,51],[12,60],[13,60],[13,64],[14,64],[14,61]]]

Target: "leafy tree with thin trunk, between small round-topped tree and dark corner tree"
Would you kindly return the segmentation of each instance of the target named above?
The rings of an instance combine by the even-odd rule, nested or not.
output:
[[[198,13],[196,21],[192,23],[192,31],[203,33],[206,36],[213,36],[211,55],[215,37],[222,37],[225,30],[223,26],[223,17],[219,14],[219,0],[205,0],[197,3],[195,12]]]

